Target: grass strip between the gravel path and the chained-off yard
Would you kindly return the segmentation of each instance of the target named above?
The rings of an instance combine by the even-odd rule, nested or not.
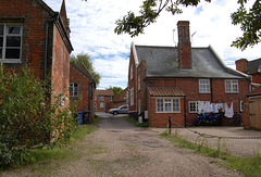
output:
[[[246,176],[259,177],[261,174],[261,154],[257,153],[254,156],[234,156],[226,152],[221,151],[220,140],[219,147],[216,149],[209,148],[208,146],[201,143],[196,144],[184,138],[181,138],[177,134],[169,135],[166,132],[161,134],[161,137],[164,137],[172,142],[176,143],[178,148],[185,148],[192,150],[195,153],[203,154],[211,157],[217,157],[223,161],[219,161],[224,167],[228,167],[233,170],[238,170]]]

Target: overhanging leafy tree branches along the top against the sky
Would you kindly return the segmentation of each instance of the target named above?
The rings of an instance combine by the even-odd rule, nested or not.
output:
[[[202,0],[203,1],[203,0]],[[204,0],[211,2],[211,0]],[[256,0],[249,12],[245,4],[248,0],[238,0],[240,8],[234,12],[232,17],[233,25],[240,25],[244,31],[243,37],[233,41],[232,46],[245,50],[260,42],[261,40],[261,2]],[[140,15],[135,15],[129,11],[122,20],[117,20],[114,33],[117,35],[126,33],[130,37],[144,34],[144,29],[154,23],[162,10],[171,12],[173,15],[183,13],[181,7],[197,7],[200,0],[145,0],[140,7]]]

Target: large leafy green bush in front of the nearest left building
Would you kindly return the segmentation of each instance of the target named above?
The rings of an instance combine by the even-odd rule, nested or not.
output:
[[[37,144],[65,144],[77,129],[73,104],[62,108],[64,96],[50,98],[42,86],[27,68],[0,66],[0,168],[30,161],[28,149]]]

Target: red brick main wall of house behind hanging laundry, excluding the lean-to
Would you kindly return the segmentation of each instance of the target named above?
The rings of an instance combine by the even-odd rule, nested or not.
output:
[[[150,81],[149,81],[150,80]],[[186,94],[186,125],[192,125],[195,123],[196,113],[189,113],[189,101],[210,101],[212,103],[228,103],[233,102],[234,112],[239,112],[240,100],[249,91],[249,81],[247,79],[239,79],[238,93],[226,93],[225,92],[225,80],[224,79],[212,79],[212,94],[211,93],[199,93],[199,79],[197,78],[148,78],[148,87],[178,87]],[[148,100],[150,101],[150,100]],[[149,102],[148,102],[149,103]],[[150,106],[153,106],[150,104]],[[150,115],[151,116],[151,115]],[[150,117],[149,118],[154,118]],[[152,115],[154,116],[154,115]],[[226,124],[226,123],[224,123]]]

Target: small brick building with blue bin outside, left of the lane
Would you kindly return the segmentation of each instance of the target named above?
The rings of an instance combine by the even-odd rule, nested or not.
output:
[[[87,114],[87,121],[95,118],[96,81],[83,63],[70,64],[70,100],[77,100],[77,112]]]

